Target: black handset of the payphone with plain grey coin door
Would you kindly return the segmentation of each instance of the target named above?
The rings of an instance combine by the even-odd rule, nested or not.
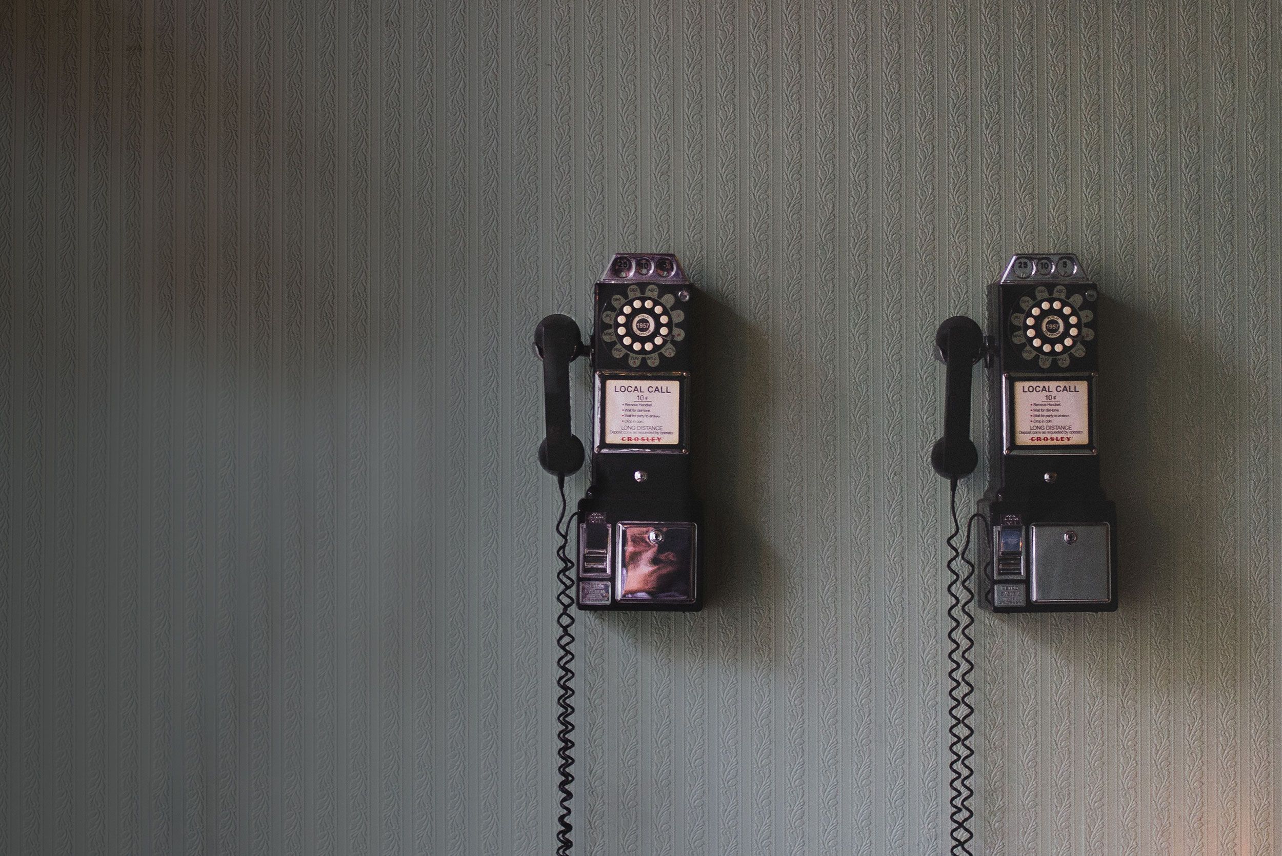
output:
[[[979,452],[970,442],[970,369],[983,358],[983,331],[973,319],[954,315],[935,333],[936,359],[947,366],[944,390],[944,436],[931,449],[931,466],[956,481],[974,472]]]

